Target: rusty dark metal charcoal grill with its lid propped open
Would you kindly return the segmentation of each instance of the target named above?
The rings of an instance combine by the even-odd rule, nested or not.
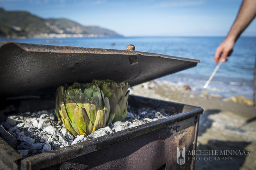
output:
[[[12,112],[54,108],[56,88],[92,79],[126,81],[131,86],[196,66],[198,60],[101,48],[7,43],[0,48],[1,119]],[[107,70],[107,71],[106,71]],[[177,147],[195,150],[196,106],[130,95],[133,107],[165,110],[154,122],[64,148],[22,157],[0,137],[0,167],[6,169],[194,169],[194,159],[177,163]],[[11,107],[10,107],[11,106]],[[182,155],[185,157],[185,155]]]

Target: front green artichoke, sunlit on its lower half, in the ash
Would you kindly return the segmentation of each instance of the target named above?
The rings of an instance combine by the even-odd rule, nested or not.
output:
[[[55,114],[74,136],[87,136],[109,125],[109,113],[109,100],[97,84],[74,83],[57,89]]]

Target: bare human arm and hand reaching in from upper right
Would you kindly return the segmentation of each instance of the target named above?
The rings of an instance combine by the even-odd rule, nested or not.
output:
[[[219,60],[225,62],[227,60],[227,56],[232,54],[235,41],[252,22],[255,16],[256,0],[243,0],[235,22],[227,34],[227,37],[216,49],[214,58],[217,64],[219,63]]]

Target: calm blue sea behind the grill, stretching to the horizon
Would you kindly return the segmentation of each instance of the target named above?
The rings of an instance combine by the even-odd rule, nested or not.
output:
[[[57,40],[57,41],[56,41]],[[203,85],[210,77],[216,64],[215,50],[224,37],[115,37],[115,38],[63,38],[24,39],[17,42],[78,46],[108,49],[126,49],[133,44],[136,51],[172,55],[201,62],[196,67],[174,73],[158,80],[167,80],[173,85],[190,85],[193,92],[206,91],[223,97],[243,95],[252,99],[253,69],[256,56],[256,37],[241,37],[235,44],[228,62],[223,63],[207,90]],[[0,40],[10,41],[10,40]],[[115,45],[111,45],[114,42]]]

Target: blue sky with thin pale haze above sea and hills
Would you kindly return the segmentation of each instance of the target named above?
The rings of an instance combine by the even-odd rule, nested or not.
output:
[[[8,11],[67,18],[124,36],[226,36],[242,0],[0,0]],[[256,36],[256,19],[242,36]]]

